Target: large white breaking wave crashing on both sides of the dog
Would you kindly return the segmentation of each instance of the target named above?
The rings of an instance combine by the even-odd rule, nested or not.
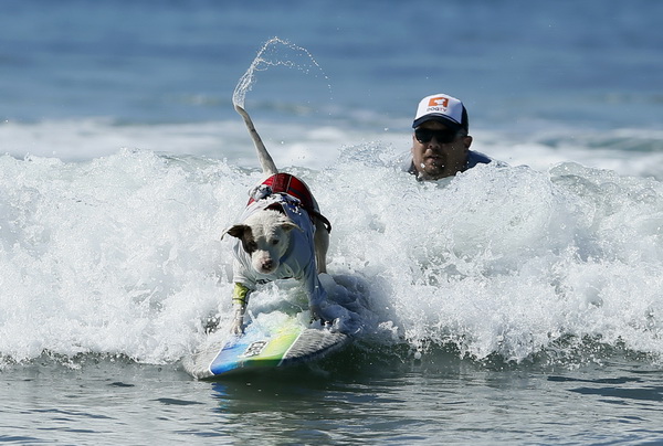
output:
[[[11,139],[28,127],[0,129]],[[101,156],[95,138],[108,151],[116,138],[107,124],[91,124],[92,134],[74,127],[62,147],[99,156],[0,157],[0,354],[176,361],[200,341],[208,314],[220,309],[229,322],[232,257],[219,236],[260,179],[236,161],[251,158],[245,130],[118,127],[134,142],[169,141],[182,153],[245,138],[223,161],[129,149]],[[337,129],[299,135],[320,153],[286,144],[272,151],[314,167],[296,170],[334,225],[326,285],[358,315],[360,336],[414,349],[453,342],[477,358],[516,361],[569,337],[663,353],[661,182],[559,163],[480,166],[418,183],[387,161],[400,144],[344,147],[338,139],[351,134]],[[57,147],[51,139],[44,149]],[[277,285],[252,305],[271,299],[303,304],[301,291]]]

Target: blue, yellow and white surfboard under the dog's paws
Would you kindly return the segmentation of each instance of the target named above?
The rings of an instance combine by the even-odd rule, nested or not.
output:
[[[347,342],[347,334],[308,328],[288,316],[276,325],[250,323],[243,334],[211,342],[186,358],[183,365],[197,379],[223,378],[314,361]]]

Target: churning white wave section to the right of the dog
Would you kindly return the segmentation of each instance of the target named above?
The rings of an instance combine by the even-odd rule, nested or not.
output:
[[[417,184],[347,160],[326,173],[355,184],[330,210],[330,269],[370,277],[373,308],[413,348],[515,363],[569,339],[663,353],[660,182],[567,163]]]

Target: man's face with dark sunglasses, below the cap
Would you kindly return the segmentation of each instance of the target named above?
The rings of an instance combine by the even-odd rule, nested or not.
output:
[[[417,139],[417,130],[423,141]],[[471,136],[451,134],[453,140],[446,141],[449,138],[444,138],[444,134],[450,129],[436,120],[425,121],[417,130],[412,135],[412,161],[421,180],[439,180],[463,171],[472,145]]]

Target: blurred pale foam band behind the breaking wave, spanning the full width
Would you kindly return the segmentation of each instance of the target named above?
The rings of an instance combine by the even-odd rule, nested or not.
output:
[[[345,147],[369,142],[386,152],[407,152],[409,129],[376,129],[361,126],[311,126],[255,119],[277,166],[322,169],[335,162]],[[615,171],[622,176],[663,179],[663,132],[615,129],[612,131],[546,128],[536,132],[512,130],[473,131],[473,149],[508,162],[547,170],[560,162]],[[109,119],[48,120],[32,124],[0,123],[0,152],[17,158],[28,155],[55,157],[63,161],[87,161],[116,153],[123,148],[171,155],[227,159],[257,167],[251,139],[238,116],[225,121],[119,125]]]

